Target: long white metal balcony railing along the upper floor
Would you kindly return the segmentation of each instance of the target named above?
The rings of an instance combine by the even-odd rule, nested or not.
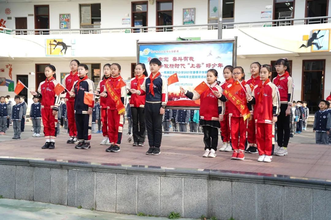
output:
[[[331,17],[307,17],[301,19],[278,19],[269,21],[228,22],[223,23],[223,29],[238,29],[252,27],[276,27],[303,24],[323,24],[331,22]],[[217,30],[218,24],[191,24],[148,27],[118,27],[118,28],[90,28],[90,29],[8,29],[0,28],[0,33],[13,35],[49,35],[49,34],[110,34],[110,33],[145,33],[145,32],[171,32],[171,31],[196,31]]]

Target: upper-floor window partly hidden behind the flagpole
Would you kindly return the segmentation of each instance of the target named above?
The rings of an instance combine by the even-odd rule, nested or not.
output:
[[[234,22],[234,1],[223,0],[222,18],[223,22]],[[209,0],[208,3],[208,23],[218,23],[218,0]],[[224,20],[225,19],[225,20]]]

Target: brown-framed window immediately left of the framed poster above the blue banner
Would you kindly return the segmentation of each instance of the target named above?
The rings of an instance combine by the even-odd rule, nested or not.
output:
[[[172,25],[172,1],[159,0],[156,2],[156,25],[157,26],[168,26]],[[161,28],[158,30],[171,31],[172,28]]]

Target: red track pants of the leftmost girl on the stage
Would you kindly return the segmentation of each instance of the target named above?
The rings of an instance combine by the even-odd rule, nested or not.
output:
[[[56,113],[56,115],[54,116],[52,108],[41,108],[41,117],[42,124],[44,125],[44,135],[46,142],[55,142],[57,133],[56,125],[58,123],[58,113]]]

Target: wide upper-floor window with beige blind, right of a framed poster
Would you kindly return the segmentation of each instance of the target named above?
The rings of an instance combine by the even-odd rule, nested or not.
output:
[[[80,28],[100,28],[101,4],[80,4]]]

